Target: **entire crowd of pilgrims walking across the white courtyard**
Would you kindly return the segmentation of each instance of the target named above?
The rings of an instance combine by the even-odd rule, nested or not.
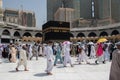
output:
[[[112,56],[113,55],[113,56]],[[53,66],[56,66],[59,60],[59,64],[63,64],[67,67],[69,63],[71,67],[74,66],[71,56],[76,58],[77,64],[91,64],[89,59],[94,59],[95,64],[111,61],[110,80],[120,80],[120,41],[117,43],[112,42],[76,42],[70,41],[64,42],[52,42],[38,44],[12,44],[0,45],[0,63],[2,58],[7,58],[9,62],[16,63],[18,59],[16,71],[19,71],[19,66],[24,66],[24,71],[28,71],[27,60],[32,60],[36,57],[38,60],[40,56],[45,56],[47,60],[47,67],[45,72],[48,75],[52,75]],[[112,58],[113,57],[113,58]]]

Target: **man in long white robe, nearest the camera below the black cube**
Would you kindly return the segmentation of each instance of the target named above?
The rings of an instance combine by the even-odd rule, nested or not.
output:
[[[46,57],[47,57],[47,69],[46,72],[48,75],[52,75],[51,71],[54,66],[54,56],[53,56],[53,49],[52,49],[52,41],[48,42],[48,46],[46,47]]]

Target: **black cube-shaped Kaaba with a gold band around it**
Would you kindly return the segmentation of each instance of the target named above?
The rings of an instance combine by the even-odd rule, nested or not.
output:
[[[70,23],[62,21],[48,21],[42,26],[43,39],[48,40],[70,40]]]

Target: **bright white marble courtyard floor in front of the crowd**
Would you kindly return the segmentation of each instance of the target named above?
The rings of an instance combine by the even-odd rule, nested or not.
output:
[[[95,65],[94,60],[91,64],[78,65],[73,58],[74,67],[63,67],[58,64],[53,68],[53,75],[46,75],[46,59],[41,57],[38,61],[33,59],[28,61],[29,71],[25,72],[23,67],[16,72],[17,63],[6,63],[6,60],[0,64],[0,80],[109,80],[110,62],[106,64]]]

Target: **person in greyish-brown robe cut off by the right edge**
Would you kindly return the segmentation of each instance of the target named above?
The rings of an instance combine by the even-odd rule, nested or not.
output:
[[[117,49],[113,52],[113,59],[109,80],[120,80],[120,41],[116,43]]]

